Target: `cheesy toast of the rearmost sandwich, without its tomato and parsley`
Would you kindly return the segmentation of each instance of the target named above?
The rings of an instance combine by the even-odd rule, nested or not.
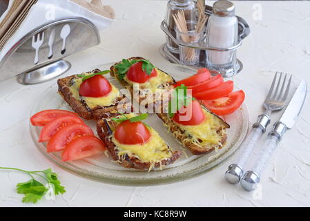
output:
[[[128,58],[128,60],[139,60],[139,59],[144,59],[143,57],[130,57]],[[144,90],[151,90],[151,92],[153,93],[153,97],[155,97],[155,90],[162,90],[161,93],[165,93],[166,91],[170,90],[171,88],[173,88],[172,84],[175,84],[175,79],[173,79],[173,77],[171,77],[171,75],[169,75],[168,73],[165,73],[163,70],[160,70],[159,68],[155,68],[157,70],[157,76],[156,77],[152,77],[149,81],[146,81],[145,83],[139,84],[139,83],[135,83],[133,81],[130,81],[129,79],[126,78],[126,76],[124,77],[124,79],[119,79],[119,76],[117,74],[117,68],[115,68],[115,66],[117,66],[117,64],[119,64],[122,61],[119,61],[117,63],[115,63],[113,66],[110,67],[110,75],[115,77],[120,84],[122,84],[122,86],[124,86],[124,88],[127,88],[131,95],[133,96],[133,84],[138,84],[139,85],[139,98],[137,99],[137,97],[134,97],[134,99],[136,99],[140,104],[142,102],[144,102],[147,106],[147,104],[150,104],[151,102],[153,103],[160,103],[161,100],[157,100],[156,99],[152,99],[150,101],[148,101],[148,97],[146,95],[146,93],[144,93]],[[161,96],[158,96],[159,99],[162,99]]]

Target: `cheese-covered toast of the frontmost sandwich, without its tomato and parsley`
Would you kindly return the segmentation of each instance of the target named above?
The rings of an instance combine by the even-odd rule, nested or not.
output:
[[[119,144],[114,137],[117,125],[118,123],[111,119],[99,119],[97,133],[106,144],[113,160],[126,168],[143,171],[151,171],[154,168],[162,169],[162,166],[173,164],[181,156],[179,151],[173,151],[151,127],[148,127],[151,139],[145,144]]]

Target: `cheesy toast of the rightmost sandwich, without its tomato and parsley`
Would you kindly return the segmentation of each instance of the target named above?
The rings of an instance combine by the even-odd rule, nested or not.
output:
[[[211,153],[224,146],[227,140],[226,129],[229,124],[202,105],[202,110],[206,115],[204,122],[194,126],[184,126],[174,122],[168,113],[157,113],[162,119],[168,132],[188,148],[193,155]],[[194,113],[193,113],[194,114]]]

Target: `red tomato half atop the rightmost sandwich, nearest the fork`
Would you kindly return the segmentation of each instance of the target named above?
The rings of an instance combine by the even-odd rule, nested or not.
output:
[[[193,100],[191,104],[177,111],[172,119],[182,125],[198,125],[204,122],[205,117],[202,106],[200,106],[197,100]]]

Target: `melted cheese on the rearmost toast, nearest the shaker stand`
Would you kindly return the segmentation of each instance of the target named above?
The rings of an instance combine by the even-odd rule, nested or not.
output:
[[[171,82],[173,79],[170,75],[167,75],[166,73],[162,72],[158,68],[155,68],[157,71],[157,76],[152,77],[145,83],[139,84],[133,81],[130,81],[125,75],[124,81],[126,81],[130,86],[133,86],[133,84],[139,84],[140,89],[148,89],[151,90],[152,93],[155,93],[156,90],[166,90],[166,83]]]

